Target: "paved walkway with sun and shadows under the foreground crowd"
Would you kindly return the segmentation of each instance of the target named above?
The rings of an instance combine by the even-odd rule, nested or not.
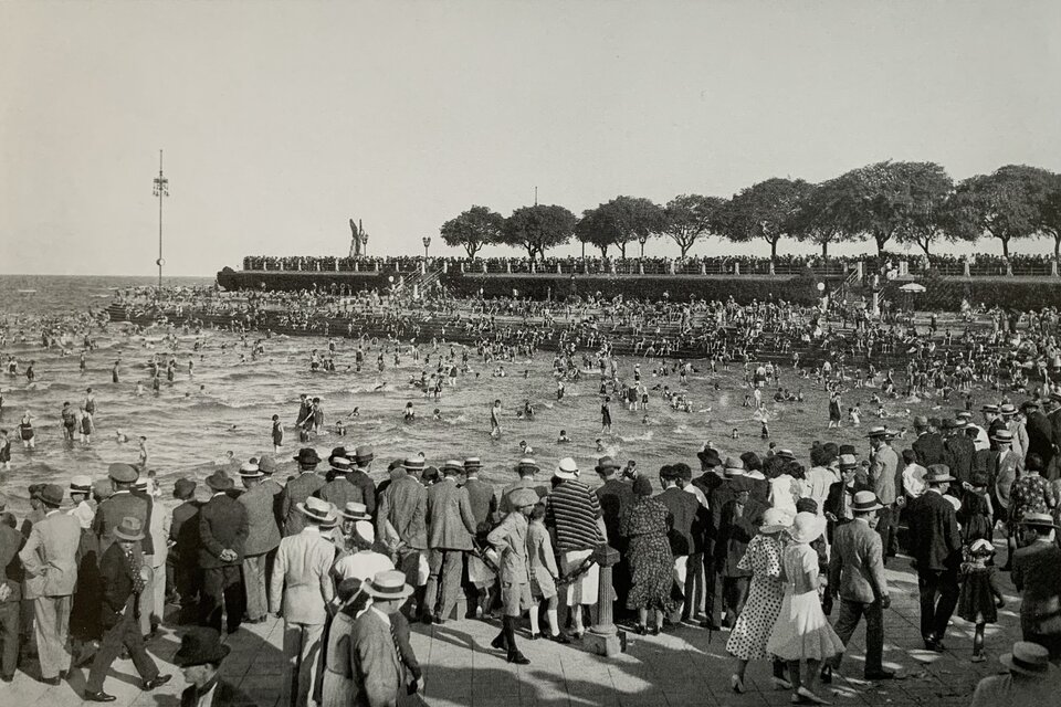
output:
[[[947,633],[947,652],[937,655],[921,651],[916,578],[908,561],[891,561],[887,571],[892,587],[892,606],[885,615],[885,664],[901,671],[903,679],[866,683],[862,674],[860,627],[844,658],[842,676],[837,675],[830,695],[837,705],[932,705],[965,707],[977,682],[1002,672],[998,656],[1019,634],[1017,606],[1008,574],[1001,576],[1007,605],[1000,623],[988,627],[985,663],[971,663],[973,626],[960,619]],[[727,633],[710,636],[706,631],[677,627],[661,636],[629,634],[627,652],[603,658],[581,648],[548,641],[519,641],[530,665],[516,667],[504,655],[490,648],[497,625],[482,621],[451,621],[442,626],[416,625],[412,644],[424,667],[427,700],[432,707],[584,707],[676,705],[761,707],[788,705],[789,693],[774,690],[769,665],[752,664],[744,695],[729,690],[732,661],[725,652]],[[261,707],[275,707],[283,666],[281,635],[276,620],[245,626],[229,639],[232,653],[222,668],[224,676],[238,683]],[[162,672],[174,680],[154,693],[141,693],[129,661],[116,662],[107,678],[106,690],[118,697],[115,707],[178,707],[185,685],[170,663],[179,646],[172,631],[149,645],[158,656]],[[29,673],[29,674],[28,674]],[[39,683],[33,663],[23,666],[14,683],[0,684],[0,704],[4,707],[40,705],[65,706],[81,701],[87,669],[73,675],[59,687]]]

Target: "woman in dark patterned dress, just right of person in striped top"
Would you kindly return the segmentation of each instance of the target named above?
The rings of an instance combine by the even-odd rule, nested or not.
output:
[[[674,583],[674,558],[666,539],[666,506],[652,496],[652,482],[647,476],[633,479],[633,504],[619,518],[619,535],[627,539],[630,561],[630,593],[627,609],[637,610],[635,631],[648,633],[649,610],[655,611],[652,635],[663,627],[663,616],[674,610],[671,588]]]

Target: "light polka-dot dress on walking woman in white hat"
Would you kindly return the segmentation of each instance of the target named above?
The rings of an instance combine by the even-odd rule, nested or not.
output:
[[[785,582],[781,581],[780,535],[757,535],[737,567],[752,571],[752,589],[744,611],[729,633],[726,651],[742,661],[758,661],[766,657],[766,642],[785,599]]]

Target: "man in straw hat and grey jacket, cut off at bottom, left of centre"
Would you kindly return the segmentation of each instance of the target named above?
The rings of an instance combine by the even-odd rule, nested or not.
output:
[[[354,621],[350,631],[350,663],[354,672],[356,707],[393,707],[402,704],[420,680],[410,682],[410,657],[398,651],[398,613],[412,588],[400,571],[379,572],[364,584],[372,605]]]

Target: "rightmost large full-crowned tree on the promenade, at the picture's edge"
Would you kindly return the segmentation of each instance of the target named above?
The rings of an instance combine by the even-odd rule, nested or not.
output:
[[[1010,241],[1044,228],[1043,209],[1053,181],[1053,173],[1027,165],[969,177],[955,192],[955,229],[969,240],[989,233],[1001,241],[1002,255],[1009,257]]]

